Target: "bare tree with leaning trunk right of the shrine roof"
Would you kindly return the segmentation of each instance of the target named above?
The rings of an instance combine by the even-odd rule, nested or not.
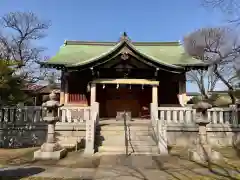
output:
[[[229,89],[232,103],[235,103],[233,76],[225,76],[223,72],[231,72],[239,62],[240,42],[238,36],[229,28],[203,28],[184,37],[184,48],[188,55],[209,63],[216,78]]]

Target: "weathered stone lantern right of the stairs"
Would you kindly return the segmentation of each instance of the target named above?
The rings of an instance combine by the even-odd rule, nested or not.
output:
[[[207,162],[221,159],[221,154],[212,150],[211,145],[207,140],[207,124],[210,123],[207,116],[207,110],[212,108],[212,105],[201,101],[193,106],[196,109],[195,123],[198,125],[198,136],[196,144],[189,150],[189,158],[193,161]]]

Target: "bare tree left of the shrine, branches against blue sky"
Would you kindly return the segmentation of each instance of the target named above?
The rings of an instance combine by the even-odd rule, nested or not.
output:
[[[25,80],[36,82],[44,73],[38,62],[43,60],[44,48],[36,42],[46,36],[50,22],[32,12],[11,12],[0,19],[0,54],[18,62],[16,73]]]

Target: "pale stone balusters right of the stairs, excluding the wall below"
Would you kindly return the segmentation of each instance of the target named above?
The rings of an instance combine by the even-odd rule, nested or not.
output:
[[[208,110],[211,124],[239,125],[238,112],[234,107],[214,107]],[[167,124],[194,124],[196,110],[192,107],[158,107],[158,118]]]

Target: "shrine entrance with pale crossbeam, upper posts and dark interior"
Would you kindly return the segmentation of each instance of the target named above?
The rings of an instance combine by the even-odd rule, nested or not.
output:
[[[131,112],[133,118],[150,118],[150,104],[158,107],[158,81],[147,79],[96,79],[91,82],[91,104],[99,103],[100,118]]]

